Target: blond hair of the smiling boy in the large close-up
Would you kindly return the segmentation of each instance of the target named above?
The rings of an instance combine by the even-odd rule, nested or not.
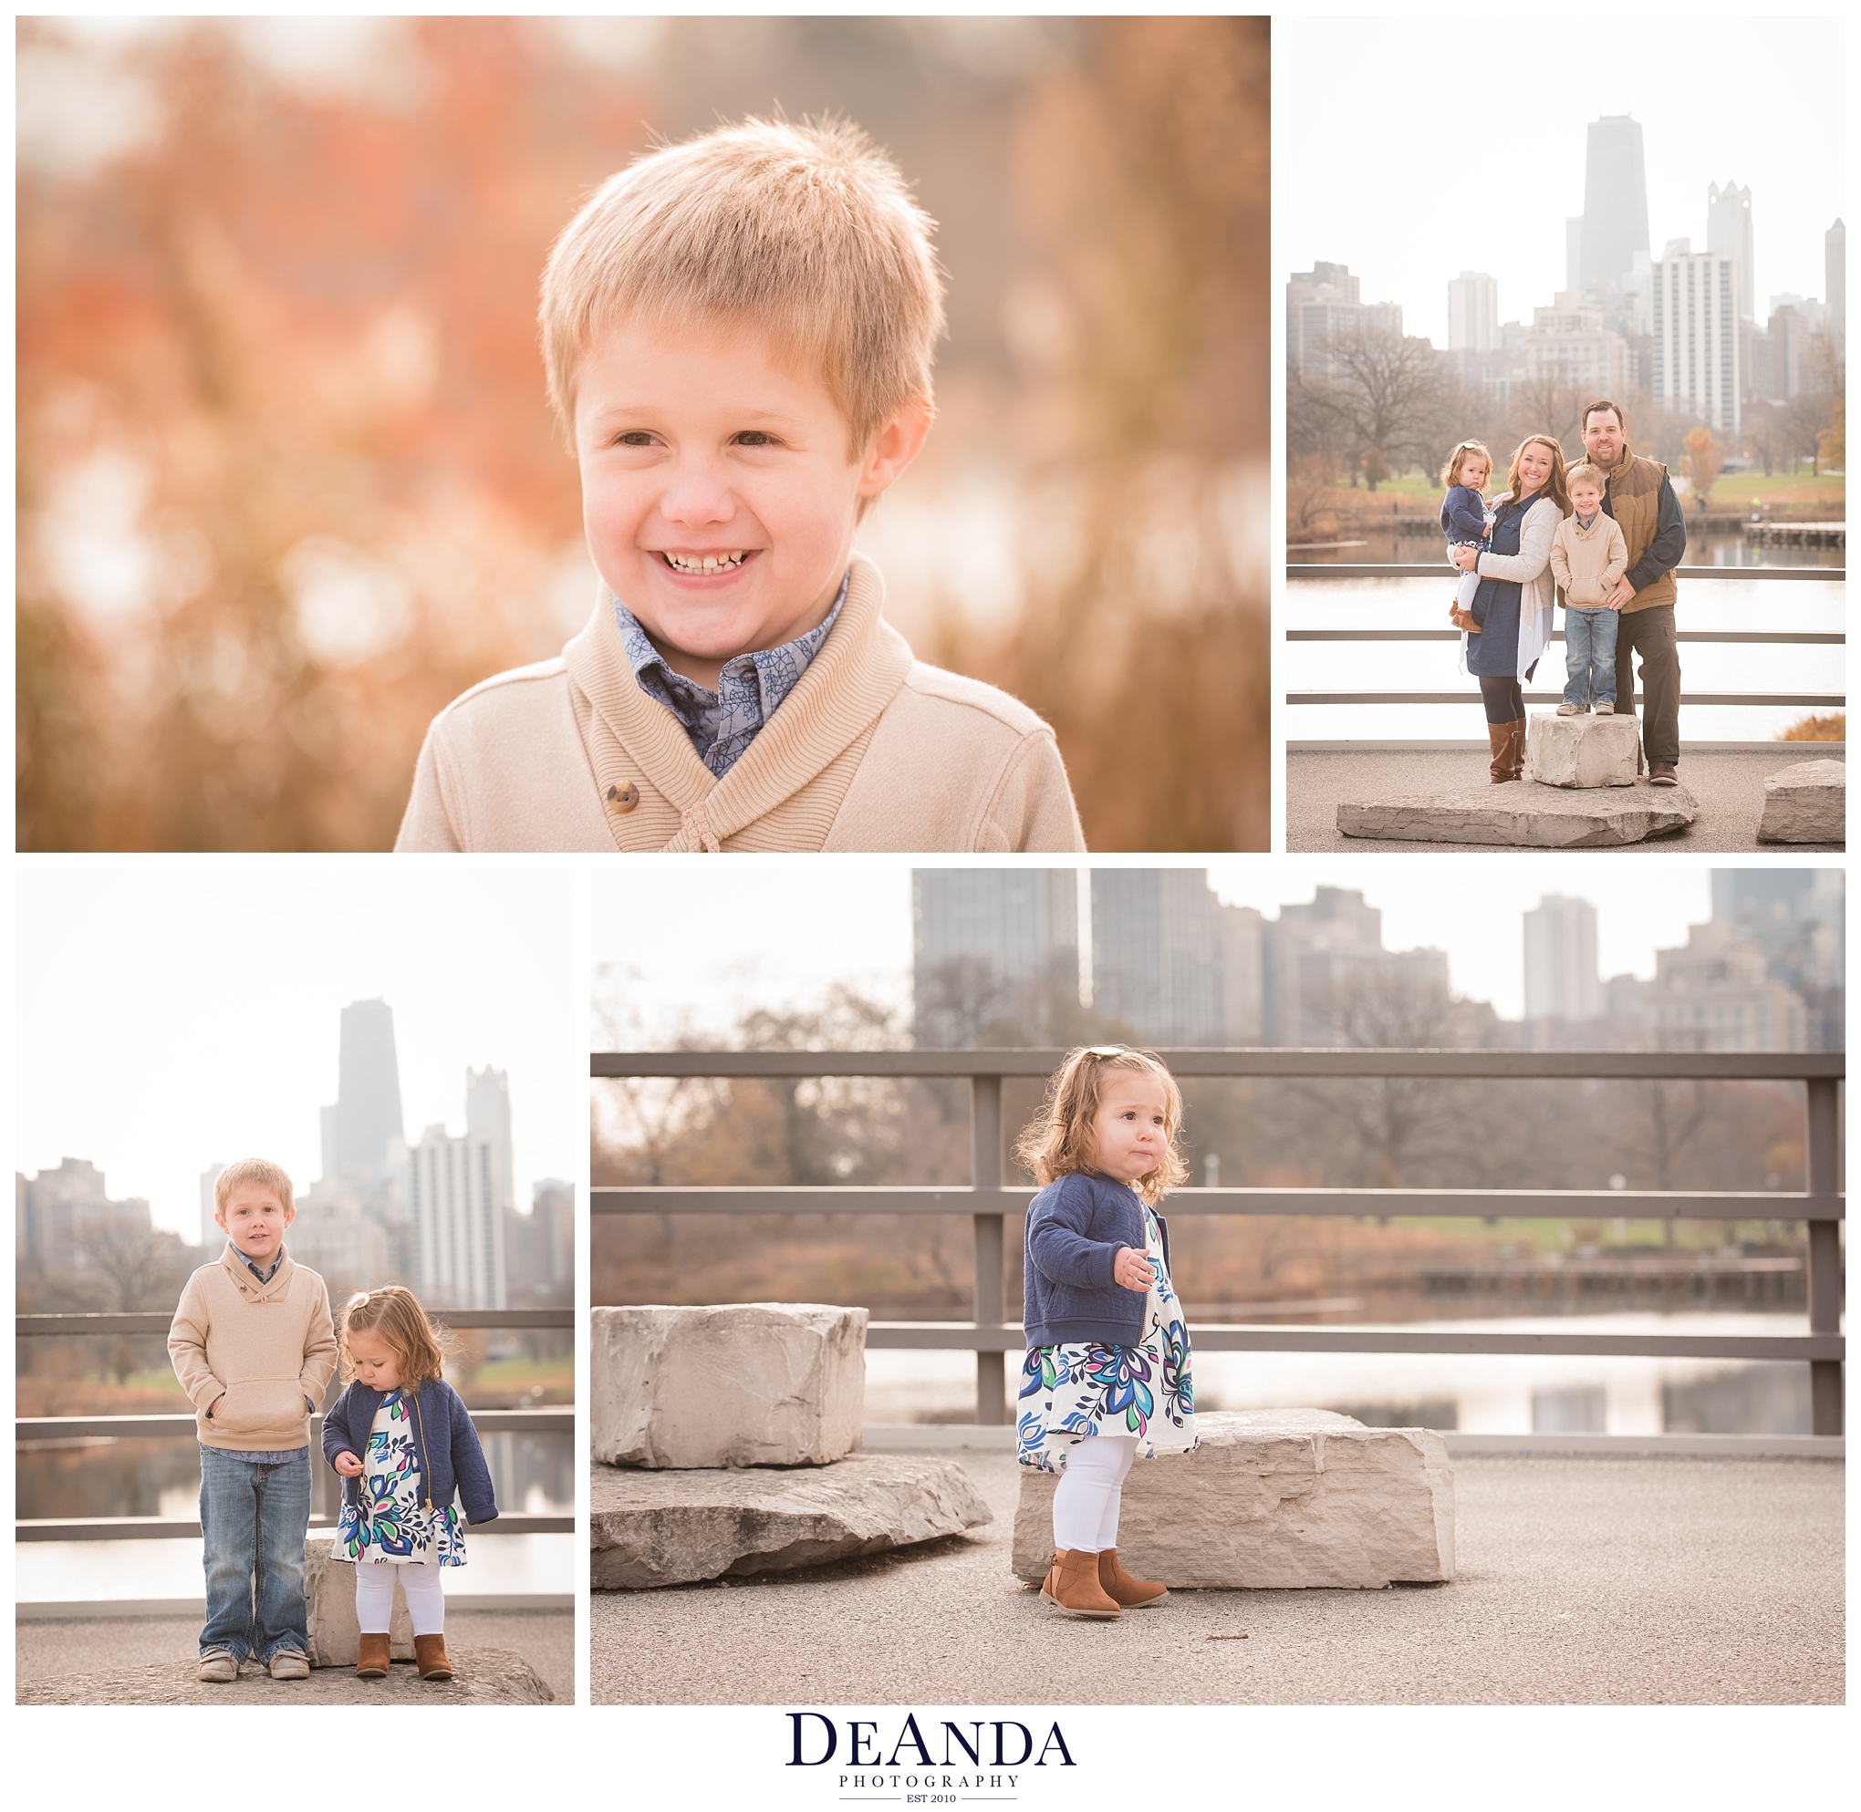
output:
[[[930,400],[934,225],[845,119],[744,119],[638,158],[543,270],[543,365],[564,430],[573,441],[577,368],[614,322],[746,322],[821,372],[858,460],[906,402]]]

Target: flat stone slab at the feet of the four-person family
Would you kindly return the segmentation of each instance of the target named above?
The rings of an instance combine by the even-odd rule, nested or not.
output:
[[[1435,793],[1392,794],[1338,806],[1346,837],[1398,843],[1478,843],[1504,848],[1595,850],[1671,837],[1699,807],[1686,787],[1546,787],[1511,779],[1502,787],[1463,781]]]

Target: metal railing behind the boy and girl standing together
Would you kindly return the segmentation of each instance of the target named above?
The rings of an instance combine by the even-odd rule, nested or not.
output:
[[[449,1328],[573,1328],[571,1308],[462,1308],[432,1310],[432,1319]],[[15,1315],[15,1338],[78,1339],[95,1334],[167,1334],[173,1315]],[[473,1410],[473,1427],[480,1434],[573,1434],[575,1408],[551,1410]],[[175,1440],[192,1438],[192,1412],[147,1416],[17,1416],[15,1444],[63,1440]],[[311,1535],[329,1533],[341,1509],[341,1479],[322,1457],[322,1414],[311,1416],[311,1455],[315,1477],[322,1479],[322,1511],[311,1516]],[[199,1518],[184,1516],[74,1516],[30,1518],[13,1524],[13,1539],[20,1542],[95,1542],[149,1540],[162,1537],[197,1537]],[[473,1535],[573,1535],[575,1518],[543,1511],[501,1511],[497,1522],[488,1522]]]

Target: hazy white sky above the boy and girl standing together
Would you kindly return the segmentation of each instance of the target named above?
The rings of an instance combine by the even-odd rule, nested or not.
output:
[[[510,1073],[517,1196],[575,1178],[586,1059],[573,876],[301,861],[15,869],[15,1166],[61,1157],[199,1228],[210,1163],[320,1165],[350,1001],[395,1008],[409,1139],[465,1129],[465,1068]]]

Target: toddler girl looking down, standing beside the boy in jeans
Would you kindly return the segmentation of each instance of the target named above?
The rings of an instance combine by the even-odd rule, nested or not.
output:
[[[478,1431],[439,1375],[439,1341],[424,1310],[400,1284],[350,1299],[339,1360],[350,1384],[324,1418],[324,1459],[344,1479],[329,1557],[355,1563],[355,1672],[363,1680],[387,1674],[398,1574],[421,1678],[450,1680],[439,1570],[465,1565],[454,1492],[471,1522],[497,1516]]]

